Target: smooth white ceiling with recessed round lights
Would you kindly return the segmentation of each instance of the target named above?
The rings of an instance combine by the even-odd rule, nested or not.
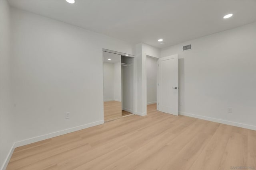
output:
[[[11,6],[130,43],[164,48],[256,21],[256,0],[8,0]],[[226,14],[232,18],[223,19]],[[164,39],[160,45],[158,39]]]

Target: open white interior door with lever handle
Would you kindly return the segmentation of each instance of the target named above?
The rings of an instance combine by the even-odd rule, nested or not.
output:
[[[178,115],[178,54],[158,60],[158,110]]]

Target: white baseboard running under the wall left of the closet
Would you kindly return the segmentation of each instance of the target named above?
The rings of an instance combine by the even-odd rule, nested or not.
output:
[[[14,147],[16,148],[16,147],[28,145],[30,143],[35,143],[35,142],[38,142],[38,141],[42,141],[42,140],[49,139],[49,138],[52,138],[52,137],[64,135],[64,134],[71,133],[71,132],[74,132],[74,131],[79,131],[79,130],[86,129],[88,127],[92,127],[92,126],[96,126],[96,125],[100,125],[100,124],[103,124],[103,123],[104,123],[104,120],[100,120],[100,121],[95,121],[95,122],[88,123],[88,124],[85,124],[85,125],[80,125],[80,126],[72,127],[72,128],[69,128],[69,129],[64,129],[64,130],[61,130],[61,131],[48,133],[46,135],[41,135],[41,136],[38,136],[38,137],[32,137],[30,139],[25,139],[25,140],[16,142]]]

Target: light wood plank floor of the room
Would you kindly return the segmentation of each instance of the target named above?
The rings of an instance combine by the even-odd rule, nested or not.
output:
[[[256,131],[174,116],[131,115],[14,150],[7,170],[230,170],[256,167]]]

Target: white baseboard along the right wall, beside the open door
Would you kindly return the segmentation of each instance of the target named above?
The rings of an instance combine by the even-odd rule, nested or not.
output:
[[[244,123],[238,123],[238,122],[234,122],[234,121],[227,121],[227,120],[223,120],[223,119],[216,119],[216,118],[212,118],[212,117],[207,117],[207,116],[202,116],[202,115],[195,115],[195,114],[185,113],[185,112],[179,112],[179,114],[184,115],[184,116],[188,116],[188,117],[195,117],[195,118],[198,118],[198,119],[204,119],[204,120],[208,120],[208,121],[222,123],[222,124],[226,124],[226,125],[232,125],[232,126],[236,126],[236,127],[242,127],[242,128],[246,128],[246,129],[256,130],[256,126],[254,126],[254,125],[247,125],[247,124],[244,124]]]

